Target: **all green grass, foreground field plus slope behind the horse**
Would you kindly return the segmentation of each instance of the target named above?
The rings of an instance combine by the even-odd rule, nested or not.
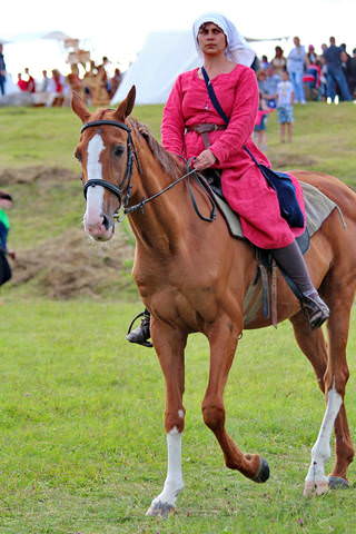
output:
[[[158,135],[160,113],[156,106],[135,115]],[[315,168],[356,186],[355,115],[352,103],[298,107],[295,142],[285,146],[273,116],[268,155],[276,167]],[[11,184],[3,169],[40,166],[79,175],[71,156],[79,126],[68,109],[0,109],[0,187],[17,198],[10,239],[19,251],[80,228],[81,187],[77,179],[61,181],[60,172],[57,187]],[[257,485],[224,467],[200,414],[208,347],[194,335],[187,348],[186,488],[176,515],[145,517],[166,475],[164,383],[154,352],[123,340],[140,309],[134,287],[113,287],[95,299],[66,301],[42,296],[31,283],[1,288],[0,534],[356,532],[355,464],[348,491],[301,496],[324,400],[288,324],[245,333],[226,390],[228,429],[244,451],[268,459],[270,479]],[[354,438],[355,343],[354,318],[346,398]]]

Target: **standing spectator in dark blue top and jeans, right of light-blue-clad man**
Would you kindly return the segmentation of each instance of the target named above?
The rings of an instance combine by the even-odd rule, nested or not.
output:
[[[327,67],[327,101],[328,103],[335,101],[336,83],[339,88],[342,99],[352,100],[352,96],[349,93],[346,78],[343,71],[343,60],[346,61],[347,57],[342,47],[336,46],[335,37],[330,37],[329,41],[330,46],[323,53]]]

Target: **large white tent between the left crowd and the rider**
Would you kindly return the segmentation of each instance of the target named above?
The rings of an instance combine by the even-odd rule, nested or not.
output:
[[[136,103],[165,102],[177,76],[198,65],[190,31],[150,33],[137,60],[125,73],[112,103],[122,100],[132,85],[137,90]]]

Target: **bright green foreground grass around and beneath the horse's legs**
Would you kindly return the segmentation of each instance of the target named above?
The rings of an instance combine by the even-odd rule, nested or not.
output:
[[[200,415],[207,345],[191,336],[186,490],[176,516],[145,517],[165,478],[164,386],[154,353],[123,342],[135,309],[90,301],[6,308],[0,533],[355,532],[355,485],[320,498],[301,496],[324,403],[287,324],[245,334],[226,393],[231,435],[244,451],[268,459],[270,479],[257,485],[224,467]],[[347,397],[354,428],[355,384],[353,377]]]

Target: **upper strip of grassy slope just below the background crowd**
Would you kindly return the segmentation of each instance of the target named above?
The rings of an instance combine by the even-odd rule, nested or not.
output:
[[[134,115],[159,138],[161,106],[138,106]],[[268,119],[268,156],[279,168],[315,169],[356,185],[356,106],[309,102],[295,108],[295,140],[281,145],[276,113]],[[80,121],[70,109],[0,108],[0,167],[29,165],[78,169],[72,158]]]

